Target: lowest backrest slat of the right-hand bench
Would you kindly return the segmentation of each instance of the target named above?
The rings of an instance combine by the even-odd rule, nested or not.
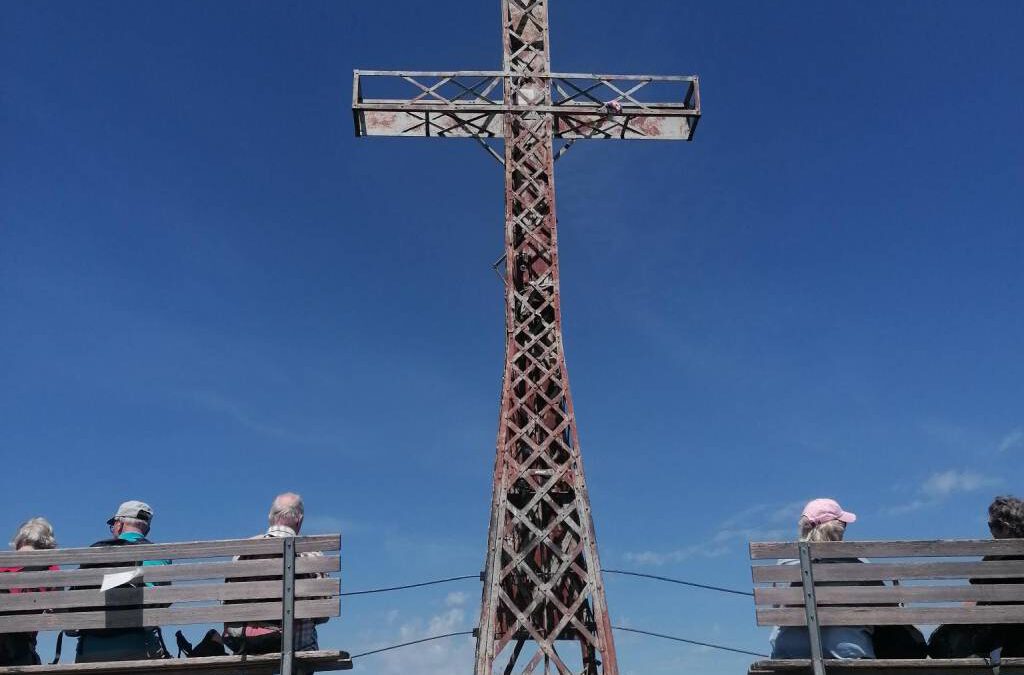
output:
[[[805,626],[804,607],[758,607],[759,626]],[[1024,624],[1024,604],[973,607],[818,607],[822,626]]]

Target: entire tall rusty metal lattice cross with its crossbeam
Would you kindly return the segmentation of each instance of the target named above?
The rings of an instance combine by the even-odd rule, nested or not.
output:
[[[551,73],[548,0],[502,0],[502,27],[500,72],[356,71],[355,132],[471,137],[505,167],[507,342],[475,675],[512,675],[520,659],[524,675],[542,663],[617,675],[562,352],[554,162],[581,138],[689,140],[697,79]]]

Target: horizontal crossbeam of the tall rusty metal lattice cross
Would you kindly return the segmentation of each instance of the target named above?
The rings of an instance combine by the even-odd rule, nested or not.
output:
[[[551,73],[537,78],[551,89],[545,106],[532,104],[540,97],[530,92],[504,100],[510,77],[501,71],[355,71],[355,133],[504,137],[505,115],[529,112],[551,115],[556,138],[689,140],[700,119],[695,76]]]

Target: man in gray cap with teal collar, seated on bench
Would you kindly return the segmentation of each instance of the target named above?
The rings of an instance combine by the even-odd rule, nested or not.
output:
[[[112,539],[96,542],[93,546],[131,546],[152,544],[145,538],[153,522],[153,508],[145,502],[131,500],[124,502],[106,521]],[[124,566],[150,566],[170,564],[170,560],[142,560],[127,562]],[[82,565],[88,566],[88,565]],[[98,566],[110,566],[108,563]],[[136,586],[136,584],[130,584]],[[145,586],[153,586],[146,583]],[[121,607],[122,609],[141,609]],[[164,646],[164,637],[157,626],[145,628],[104,628],[78,632],[78,646],[75,649],[76,663],[98,661],[135,661],[140,659],[167,659],[170,655]]]

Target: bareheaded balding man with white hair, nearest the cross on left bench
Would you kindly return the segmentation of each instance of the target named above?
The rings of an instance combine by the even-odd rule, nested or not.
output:
[[[305,507],[302,498],[295,493],[278,495],[270,504],[267,515],[269,526],[266,532],[254,539],[270,537],[297,537],[302,530],[302,519]],[[299,553],[300,556],[323,555],[319,551]],[[242,556],[246,559],[260,556]],[[323,574],[301,575],[304,579],[324,577]],[[240,580],[241,581],[241,580]],[[295,642],[296,651],[314,651],[319,648],[316,641],[316,624],[323,624],[327,619],[296,619]],[[246,624],[224,624],[224,644],[236,653],[274,653],[281,651],[281,622],[260,621]]]

